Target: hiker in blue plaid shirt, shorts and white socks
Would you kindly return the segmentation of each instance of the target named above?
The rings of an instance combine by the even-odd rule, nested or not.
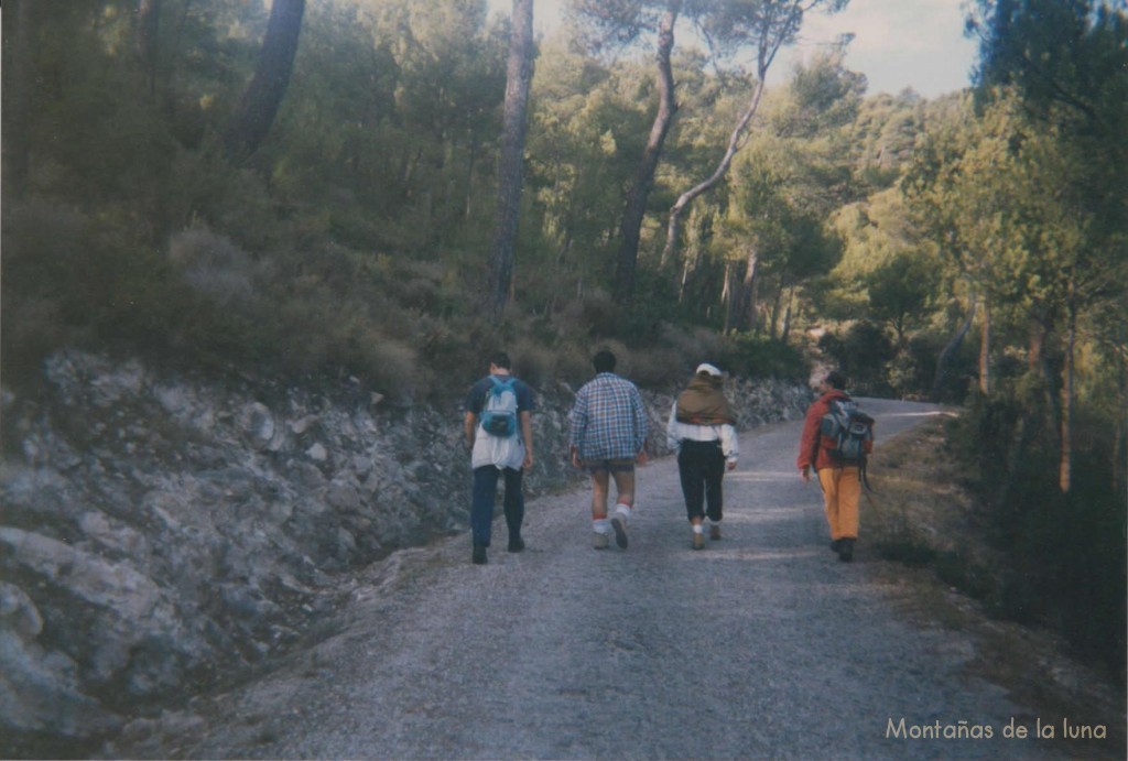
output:
[[[575,395],[569,415],[572,464],[591,475],[591,524],[596,549],[627,547],[627,520],[634,506],[634,467],[646,461],[646,408],[635,384],[615,374],[615,355],[601,351],[592,359],[596,377]],[[607,520],[607,496],[615,480],[615,516]]]

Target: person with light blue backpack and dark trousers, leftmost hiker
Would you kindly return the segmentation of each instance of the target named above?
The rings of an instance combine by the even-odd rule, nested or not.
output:
[[[486,548],[493,532],[494,498],[497,479],[504,477],[503,506],[509,528],[509,551],[525,549],[521,524],[525,522],[522,476],[532,467],[532,390],[510,372],[505,352],[490,357],[490,374],[470,387],[466,396],[464,428],[470,448],[474,490],[470,501],[472,561],[487,563]]]

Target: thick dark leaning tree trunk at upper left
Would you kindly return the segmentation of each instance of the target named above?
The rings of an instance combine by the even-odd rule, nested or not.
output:
[[[258,68],[226,135],[228,156],[252,156],[266,139],[290,85],[306,0],[274,0]]]

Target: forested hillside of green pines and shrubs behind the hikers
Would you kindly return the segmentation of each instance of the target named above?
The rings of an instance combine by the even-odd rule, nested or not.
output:
[[[485,0],[10,0],[5,389],[64,347],[405,404],[499,345],[537,384],[836,364],[966,405],[994,602],[1120,671],[1125,5],[979,0],[935,99],[848,42],[774,64],[845,5],[575,0],[530,42]]]

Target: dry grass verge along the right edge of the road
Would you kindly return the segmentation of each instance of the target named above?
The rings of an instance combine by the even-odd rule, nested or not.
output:
[[[874,493],[863,504],[865,543],[882,561],[914,623],[945,630],[970,675],[1004,687],[1032,724],[1104,724],[1104,741],[1061,743],[1075,758],[1125,758],[1125,693],[1108,674],[1070,658],[1059,636],[994,617],[1006,557],[989,547],[975,502],[946,454],[934,418],[887,442],[871,464]],[[1020,719],[1023,717],[1019,717]],[[1059,741],[1061,742],[1061,741]]]

